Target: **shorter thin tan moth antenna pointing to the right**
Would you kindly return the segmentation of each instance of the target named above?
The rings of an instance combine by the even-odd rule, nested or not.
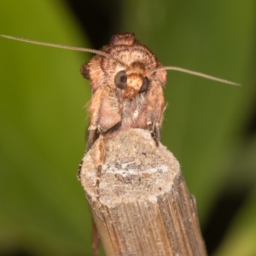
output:
[[[212,77],[210,75],[207,75],[205,73],[195,72],[195,71],[185,69],[185,68],[182,68],[182,67],[156,67],[156,68],[152,69],[150,71],[150,73],[154,73],[155,71],[163,70],[163,69],[175,70],[175,71],[179,71],[179,72],[183,72],[183,73],[189,73],[189,74],[197,76],[197,77],[201,77],[201,78],[204,78],[204,79],[210,79],[210,80],[217,81],[217,82],[224,83],[224,84],[241,85],[241,84],[237,84],[235,82],[231,82],[231,81],[224,80],[224,79],[218,79],[218,78]]]

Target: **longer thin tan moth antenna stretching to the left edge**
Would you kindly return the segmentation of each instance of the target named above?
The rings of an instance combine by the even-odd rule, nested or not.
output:
[[[77,51],[90,52],[90,53],[93,53],[93,54],[96,54],[96,55],[102,55],[106,58],[110,58],[113,61],[116,61],[121,67],[125,68],[124,63],[122,63],[121,61],[116,60],[115,58],[113,58],[112,55],[108,55],[107,53],[103,52],[102,50],[88,49],[88,48],[83,48],[83,47],[75,47],[75,46],[68,46],[68,45],[62,45],[62,44],[45,43],[45,42],[39,42],[39,41],[30,40],[30,39],[26,39],[26,38],[15,38],[15,37],[12,37],[12,36],[7,36],[7,35],[1,35],[1,37],[9,38],[9,39],[12,39],[12,40],[21,41],[21,42],[25,42],[25,43],[29,43],[29,44],[38,44],[38,45],[44,45],[44,46],[49,46],[49,47],[61,48],[61,49],[71,49],[71,50],[77,50]]]

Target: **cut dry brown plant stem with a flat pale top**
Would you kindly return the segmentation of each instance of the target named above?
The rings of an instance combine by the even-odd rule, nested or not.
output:
[[[95,149],[84,156],[81,183],[106,255],[207,255],[195,200],[166,147],[140,129],[108,140],[99,201]]]

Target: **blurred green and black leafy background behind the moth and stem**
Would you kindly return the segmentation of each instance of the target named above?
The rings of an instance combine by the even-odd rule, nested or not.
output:
[[[3,0],[0,33],[99,49],[135,32],[168,72],[162,143],[195,195],[210,255],[256,255],[256,3]],[[76,179],[91,55],[0,38],[0,255],[90,255]],[[103,255],[103,253],[102,253]]]

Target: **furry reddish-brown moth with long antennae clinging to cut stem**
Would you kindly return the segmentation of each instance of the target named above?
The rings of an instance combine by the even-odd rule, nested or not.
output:
[[[101,50],[78,48],[61,44],[49,44],[24,38],[2,35],[26,43],[40,44],[62,49],[73,49],[96,54],[81,68],[84,78],[90,80],[92,90],[88,104],[90,123],[86,152],[96,143],[93,160],[96,166],[96,199],[100,198],[100,179],[104,162],[104,141],[119,131],[141,128],[150,131],[155,145],[160,142],[160,126],[166,107],[163,86],[166,70],[212,79],[225,84],[236,84],[181,67],[163,67],[156,56],[133,33],[116,34]],[[79,165],[78,177],[83,166]]]

